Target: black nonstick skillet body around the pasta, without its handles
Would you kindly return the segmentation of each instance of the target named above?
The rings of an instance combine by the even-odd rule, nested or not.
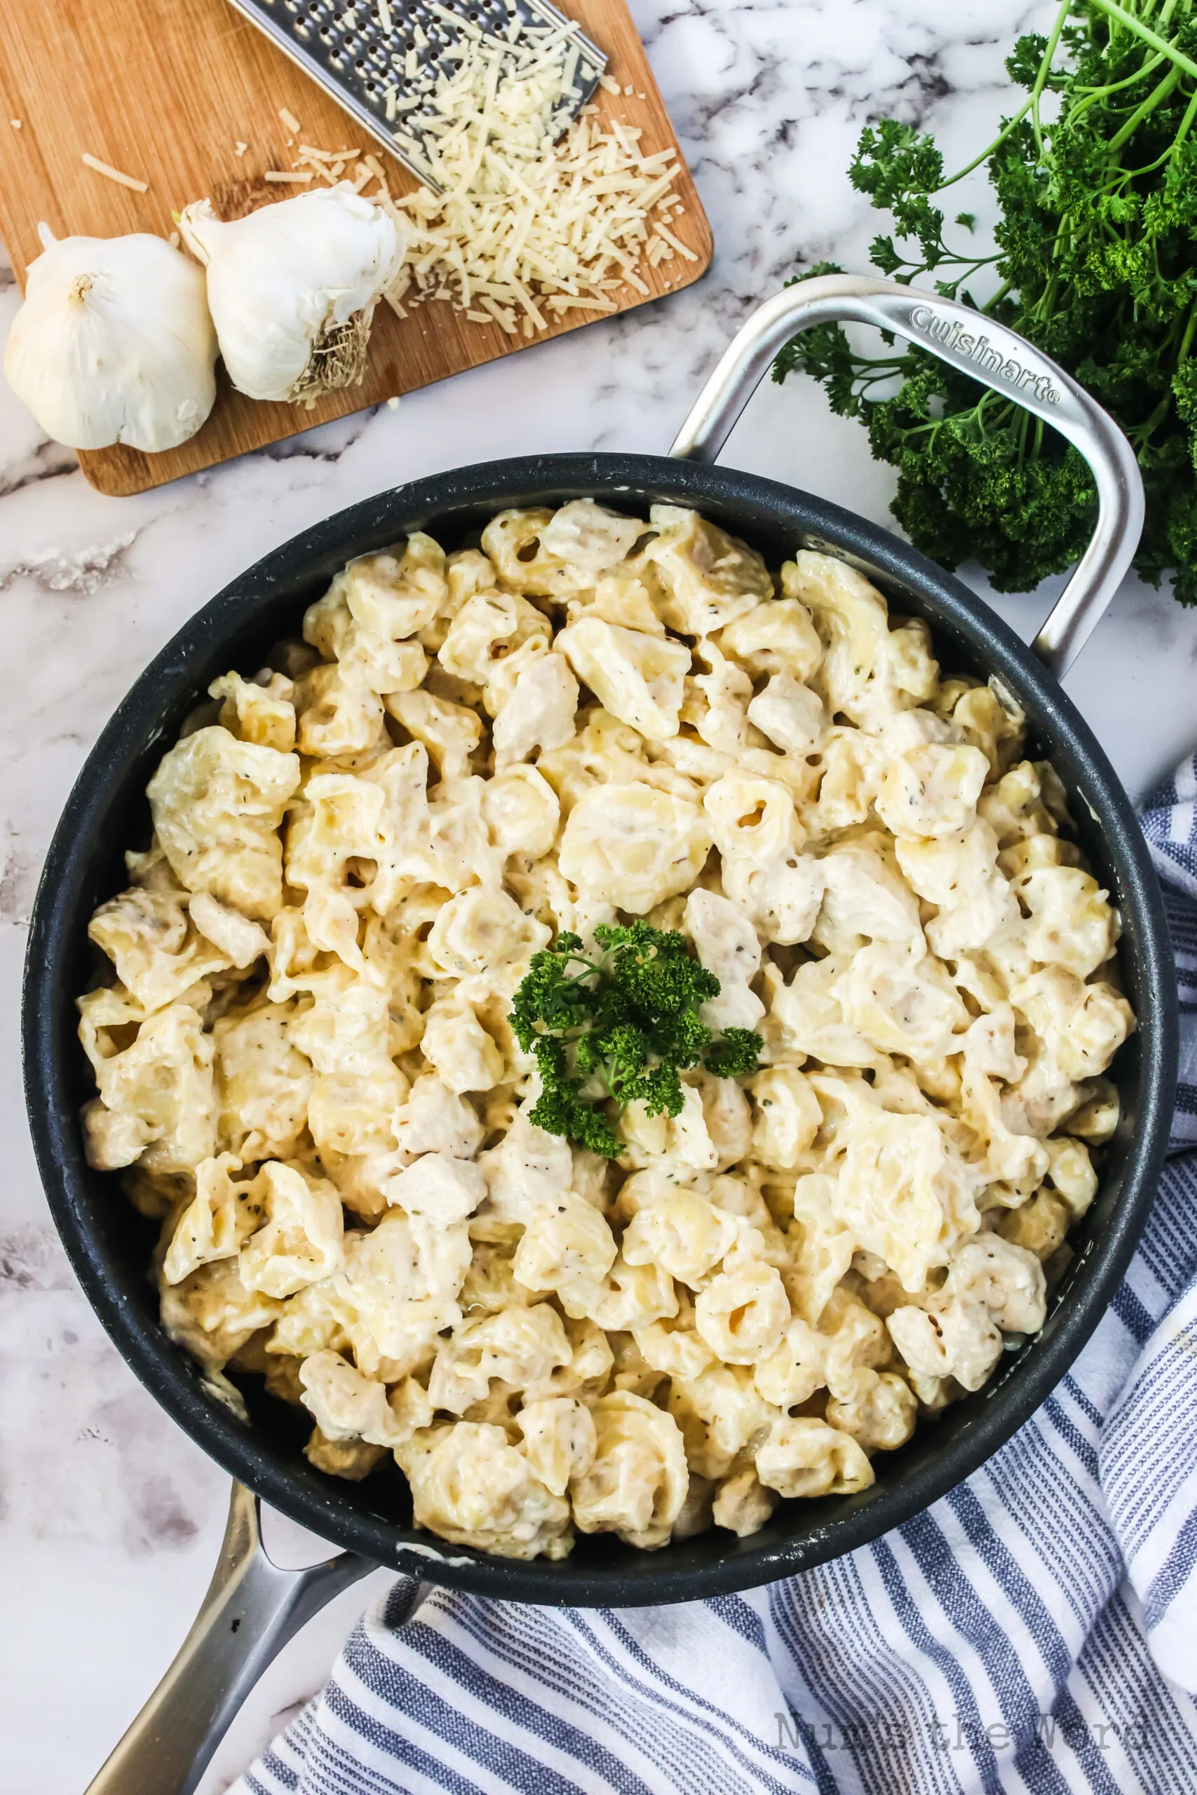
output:
[[[77,1115],[93,1084],[74,1000],[99,969],[88,917],[127,883],[124,849],[149,838],[147,779],[215,675],[255,671],[280,635],[298,634],[303,609],[355,555],[416,528],[454,549],[499,510],[580,495],[641,517],[653,503],[695,506],[772,567],[799,547],[842,555],[881,587],[894,612],[930,621],[946,670],[996,675],[1027,711],[1028,752],[1050,757],[1061,774],[1084,853],[1120,906],[1140,1032],[1111,1070],[1122,1095],[1118,1134],[1044,1328],[1009,1353],[982,1391],[922,1423],[906,1447],[878,1454],[872,1488],[781,1502],[747,1540],[711,1529],[644,1553],[610,1535],[581,1535],[567,1560],[522,1565],[413,1533],[393,1465],[357,1484],[316,1472],[301,1450],[310,1423],[266,1397],[260,1380],[240,1380],[249,1425],[203,1388],[196,1364],[158,1325],[147,1273],[154,1224],[135,1213],[115,1174],[84,1163]],[[1052,675],[967,587],[888,531],[773,481],[655,456],[535,456],[415,481],[316,524],[228,585],[162,650],[97,741],[56,831],[32,919],[23,1048],[38,1163],[83,1287],[136,1375],[206,1452],[294,1520],[380,1563],[400,1563],[415,1542],[420,1556],[406,1567],[436,1581],[517,1601],[619,1607],[748,1589],[851,1551],[937,1501],[1034,1413],[1100,1319],[1147,1219],[1175,1079],[1175,987],[1159,892],[1127,795]]]

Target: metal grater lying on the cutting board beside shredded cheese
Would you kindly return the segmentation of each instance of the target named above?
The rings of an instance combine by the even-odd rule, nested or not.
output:
[[[569,25],[578,43],[578,68],[572,95],[558,111],[562,131],[594,95],[607,66],[603,52],[590,43],[578,25],[558,13],[549,0],[230,0],[239,13],[273,38],[293,63],[321,84],[337,106],[352,113],[406,169],[436,187],[424,160],[424,108],[431,115],[431,97],[441,72],[458,66],[449,50],[474,32],[502,41],[511,20],[526,25]],[[463,29],[454,32],[443,16],[452,13]],[[427,39],[416,43],[415,27]],[[470,31],[472,27],[472,31]],[[407,59],[415,57],[415,75],[407,75]],[[420,104],[395,111],[397,101]]]

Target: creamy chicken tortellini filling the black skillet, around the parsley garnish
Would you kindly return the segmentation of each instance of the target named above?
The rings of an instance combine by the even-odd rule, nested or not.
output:
[[[1010,702],[861,573],[511,510],[352,562],[208,700],[79,1038],[214,1395],[264,1377],[454,1545],[655,1551],[867,1488],[1043,1325],[1118,1124],[1118,914]],[[508,1012],[632,917],[761,1055],[612,1106],[608,1161],[531,1122]]]

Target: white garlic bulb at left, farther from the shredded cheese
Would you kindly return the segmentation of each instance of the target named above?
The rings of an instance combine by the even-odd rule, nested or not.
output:
[[[9,386],[68,449],[178,449],[215,402],[203,271],[162,237],[38,235],[4,350]]]

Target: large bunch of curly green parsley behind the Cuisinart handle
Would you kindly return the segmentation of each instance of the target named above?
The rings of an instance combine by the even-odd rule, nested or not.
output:
[[[1046,38],[1018,39],[1007,70],[1028,97],[967,169],[946,180],[935,142],[894,118],[861,133],[851,163],[852,185],[894,219],[870,248],[883,275],[937,273],[939,293],[974,303],[967,284],[992,264],[998,287],[978,311],[1113,413],[1147,488],[1134,565],[1154,585],[1174,571],[1183,605],[1197,603],[1193,4],[1062,0]],[[933,201],[982,163],[1001,206],[998,253],[958,255]],[[840,269],[824,262],[800,278],[826,273]],[[773,379],[795,368],[867,424],[874,456],[897,468],[894,515],[942,565],[976,558],[1000,592],[1025,592],[1082,553],[1097,512],[1089,470],[1010,398],[915,346],[858,355],[838,325],[786,345]],[[894,379],[896,393],[874,397]]]

